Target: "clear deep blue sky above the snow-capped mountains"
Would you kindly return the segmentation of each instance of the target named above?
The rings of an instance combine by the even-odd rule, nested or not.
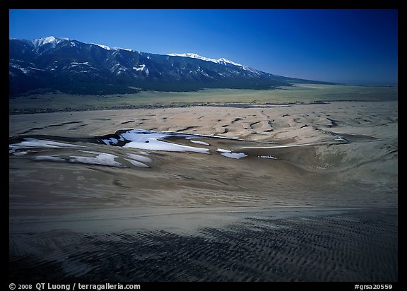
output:
[[[396,10],[11,10],[10,37],[224,57],[281,76],[396,83]]]

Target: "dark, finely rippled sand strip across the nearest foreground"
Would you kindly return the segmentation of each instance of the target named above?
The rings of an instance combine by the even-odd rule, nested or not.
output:
[[[196,235],[21,235],[11,242],[10,272],[14,280],[47,281],[391,282],[398,278],[397,247],[394,209],[249,215]]]

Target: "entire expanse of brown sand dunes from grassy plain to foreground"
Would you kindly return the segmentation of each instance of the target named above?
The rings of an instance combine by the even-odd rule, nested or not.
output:
[[[11,146],[11,278],[397,280],[397,108],[10,116],[12,146],[42,141]],[[102,142],[120,129],[205,137],[167,140],[201,153]]]

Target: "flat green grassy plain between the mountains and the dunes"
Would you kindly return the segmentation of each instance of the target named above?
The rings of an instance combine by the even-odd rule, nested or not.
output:
[[[309,103],[334,101],[394,101],[397,87],[297,84],[277,90],[206,89],[193,92],[141,91],[122,95],[68,95],[49,93],[9,100],[10,114],[188,107],[233,103]]]

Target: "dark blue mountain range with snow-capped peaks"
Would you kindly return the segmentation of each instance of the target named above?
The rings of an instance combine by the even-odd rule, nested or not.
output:
[[[70,94],[189,91],[202,88],[270,89],[287,78],[227,59],[197,54],[150,54],[66,38],[9,40],[10,96],[58,90]]]

